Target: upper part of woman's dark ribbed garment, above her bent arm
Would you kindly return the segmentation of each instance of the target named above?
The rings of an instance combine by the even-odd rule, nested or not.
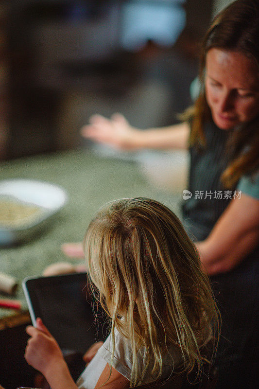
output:
[[[225,144],[230,132],[213,122],[204,130],[206,147],[190,147],[188,190],[192,195],[182,205],[183,223],[193,240],[207,238],[234,195],[234,189],[227,192],[220,181],[228,163]]]

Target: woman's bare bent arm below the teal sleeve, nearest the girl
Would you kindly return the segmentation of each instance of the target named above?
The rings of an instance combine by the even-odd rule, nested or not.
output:
[[[202,264],[208,274],[231,270],[259,240],[259,200],[242,194],[225,209],[206,240],[198,242]]]

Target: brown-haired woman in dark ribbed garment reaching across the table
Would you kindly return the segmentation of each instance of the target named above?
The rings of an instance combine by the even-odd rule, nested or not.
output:
[[[237,0],[205,36],[200,95],[190,119],[139,131],[119,114],[93,116],[82,134],[121,149],[190,148],[186,230],[222,314],[218,388],[256,388],[259,239],[259,2]],[[65,246],[68,254],[76,254]],[[80,248],[77,252],[80,255]]]

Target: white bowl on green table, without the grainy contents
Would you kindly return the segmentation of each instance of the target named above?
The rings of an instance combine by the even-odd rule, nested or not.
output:
[[[38,217],[18,227],[0,225],[0,245],[10,246],[32,238],[43,229],[68,200],[66,192],[49,182],[29,179],[10,179],[0,181],[0,197],[10,197],[22,203],[36,205],[41,208]]]

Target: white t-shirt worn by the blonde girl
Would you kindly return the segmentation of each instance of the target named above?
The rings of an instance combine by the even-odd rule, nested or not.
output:
[[[118,330],[115,329],[115,352],[112,360],[112,366],[115,370],[119,371],[124,377],[130,381],[132,370],[132,351],[128,339],[122,336]],[[112,355],[112,337],[111,334],[107,337],[104,344],[98,352],[95,354],[91,362],[88,363],[86,369],[80,375],[77,380],[77,386],[79,389],[94,389],[97,381],[104,371],[107,363],[111,364]],[[176,348],[171,348],[167,356],[163,358],[163,372],[162,376],[166,377],[170,375],[173,368],[175,368],[181,362],[181,355]],[[143,371],[144,357],[138,355],[138,371]],[[172,361],[173,357],[173,361]],[[151,371],[147,370],[142,381],[138,385],[147,384],[155,381],[155,377],[152,376]]]

